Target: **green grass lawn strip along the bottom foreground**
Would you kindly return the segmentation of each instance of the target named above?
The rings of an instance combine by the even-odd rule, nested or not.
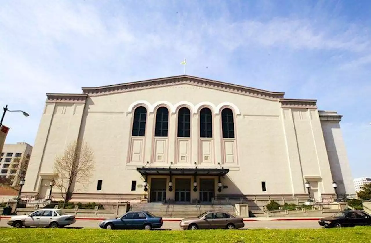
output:
[[[0,242],[7,243],[160,243],[160,242],[295,242],[369,243],[371,227],[292,230],[101,230],[101,229],[0,229]]]

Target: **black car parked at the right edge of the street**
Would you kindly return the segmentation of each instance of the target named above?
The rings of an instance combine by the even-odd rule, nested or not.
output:
[[[371,216],[361,210],[341,211],[331,217],[318,220],[319,225],[324,227],[353,227],[371,225]]]

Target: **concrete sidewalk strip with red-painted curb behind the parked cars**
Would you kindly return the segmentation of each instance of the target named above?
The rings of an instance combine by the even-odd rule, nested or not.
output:
[[[0,216],[0,219],[9,219],[11,216]],[[76,217],[76,220],[105,220],[104,217]],[[184,218],[162,218],[163,221],[181,221]],[[243,218],[243,221],[303,221],[319,220],[320,217],[252,217]]]

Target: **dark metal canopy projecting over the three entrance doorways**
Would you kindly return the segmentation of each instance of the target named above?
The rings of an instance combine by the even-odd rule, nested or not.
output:
[[[224,168],[154,168],[138,167],[137,171],[141,175],[220,175],[224,176],[229,169]]]

